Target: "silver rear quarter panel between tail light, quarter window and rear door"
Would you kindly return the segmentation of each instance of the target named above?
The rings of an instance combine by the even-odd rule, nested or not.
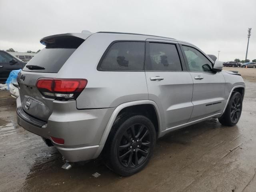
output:
[[[110,108],[124,102],[147,100],[145,72],[98,71],[97,65],[111,42],[145,40],[124,34],[93,34],[68,58],[57,78],[84,78],[88,84],[76,99],[78,109]]]

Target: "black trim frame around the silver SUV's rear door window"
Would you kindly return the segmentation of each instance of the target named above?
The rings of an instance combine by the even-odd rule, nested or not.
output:
[[[146,57],[149,55],[149,44],[150,43],[162,43],[162,44],[172,44],[176,46],[176,50],[178,52],[178,56],[180,58],[180,65],[181,65],[181,71],[168,71],[168,70],[145,70],[145,72],[185,72],[186,71],[186,65],[184,58],[182,56],[182,52],[180,50],[180,46],[178,45],[178,42],[167,42],[167,41],[146,41],[146,55],[145,55],[145,62],[144,62],[144,69],[146,65]]]

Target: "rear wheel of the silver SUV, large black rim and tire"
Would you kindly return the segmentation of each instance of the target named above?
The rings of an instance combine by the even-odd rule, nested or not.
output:
[[[105,144],[104,161],[117,174],[130,176],[148,164],[155,144],[152,122],[145,116],[129,114],[114,123]]]

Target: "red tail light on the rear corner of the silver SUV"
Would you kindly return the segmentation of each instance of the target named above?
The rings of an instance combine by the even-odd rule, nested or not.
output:
[[[40,78],[36,87],[41,94],[58,100],[74,100],[87,85],[86,79]]]

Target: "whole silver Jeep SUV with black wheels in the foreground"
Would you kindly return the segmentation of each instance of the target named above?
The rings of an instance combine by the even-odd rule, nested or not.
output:
[[[240,118],[242,77],[190,43],[87,31],[40,42],[46,47],[17,78],[18,123],[69,162],[102,155],[128,176],[168,132],[210,118],[234,126]]]

